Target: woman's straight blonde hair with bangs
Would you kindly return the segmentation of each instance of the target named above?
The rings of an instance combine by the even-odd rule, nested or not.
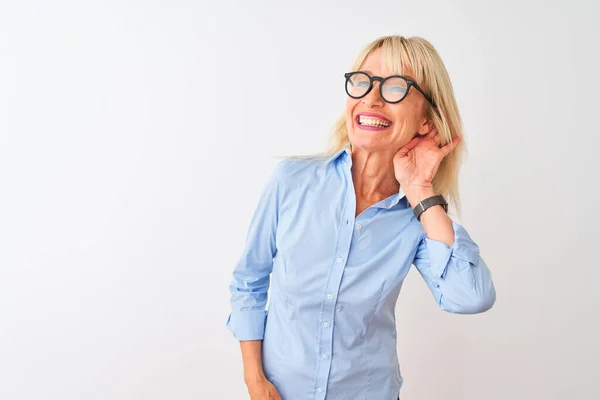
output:
[[[423,91],[436,103],[437,108],[433,108],[427,102],[426,118],[433,121],[442,144],[450,143],[455,137],[461,138],[456,148],[444,157],[433,180],[435,192],[444,195],[449,206],[456,214],[460,214],[458,172],[466,155],[466,147],[454,89],[440,55],[433,45],[423,38],[383,36],[363,48],[351,71],[358,71],[367,57],[377,49],[381,49],[382,59],[392,74],[412,75]],[[341,151],[348,142],[346,115],[343,112],[331,129],[326,150],[314,156],[332,156]]]

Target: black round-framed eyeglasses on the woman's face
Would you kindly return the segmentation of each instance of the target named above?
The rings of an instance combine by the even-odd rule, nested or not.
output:
[[[373,82],[379,81],[379,94],[388,103],[400,103],[408,94],[410,87],[414,86],[434,108],[437,107],[433,99],[425,94],[417,82],[407,77],[392,75],[382,78],[381,76],[371,76],[361,71],[346,72],[344,76],[346,77],[346,93],[353,99],[365,97],[373,89]]]

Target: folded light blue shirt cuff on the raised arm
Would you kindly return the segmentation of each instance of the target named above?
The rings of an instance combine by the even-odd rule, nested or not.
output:
[[[479,263],[479,246],[471,239],[469,233],[460,224],[452,221],[454,243],[452,246],[438,240],[425,238],[429,261],[435,276],[444,279],[448,265],[454,261],[454,266],[461,271]]]

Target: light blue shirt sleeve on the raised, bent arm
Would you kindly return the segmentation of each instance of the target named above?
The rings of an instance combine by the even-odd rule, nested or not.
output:
[[[465,228],[454,221],[452,228],[452,246],[425,235],[413,263],[442,310],[457,314],[487,311],[496,301],[492,274]]]

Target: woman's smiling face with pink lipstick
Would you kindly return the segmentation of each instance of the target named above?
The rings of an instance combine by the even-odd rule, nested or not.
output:
[[[380,49],[371,53],[359,70],[371,76],[384,78],[394,75],[385,68]],[[405,76],[414,80],[410,74]],[[427,121],[425,117],[429,103],[414,87],[410,88],[400,103],[387,103],[379,94],[379,84],[377,81],[373,82],[371,91],[361,99],[348,96],[346,101],[348,137],[353,149],[364,148],[369,151],[395,153],[415,134],[422,135],[431,130],[431,121]],[[365,121],[367,117],[370,121]],[[387,126],[382,126],[377,121]],[[366,125],[369,122],[371,125]],[[372,126],[373,124],[377,126]]]

